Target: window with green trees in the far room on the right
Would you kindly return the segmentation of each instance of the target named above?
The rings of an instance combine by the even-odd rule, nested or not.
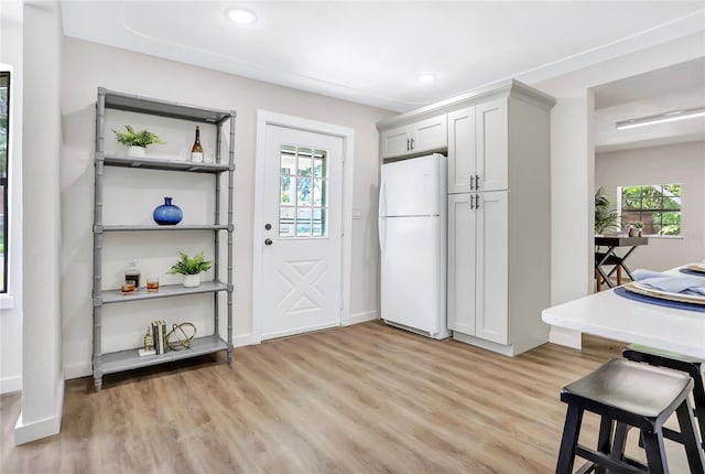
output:
[[[621,186],[619,192],[625,224],[643,224],[644,235],[681,235],[680,184]]]

